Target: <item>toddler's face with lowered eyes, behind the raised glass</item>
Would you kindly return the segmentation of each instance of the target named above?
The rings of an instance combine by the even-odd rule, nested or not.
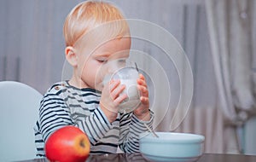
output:
[[[96,46],[94,46],[95,48]],[[96,77],[100,68],[106,61],[124,59],[129,57],[131,38],[116,38],[103,43],[98,48],[81,48],[79,53],[78,72],[81,87],[96,90],[102,89],[102,78]]]

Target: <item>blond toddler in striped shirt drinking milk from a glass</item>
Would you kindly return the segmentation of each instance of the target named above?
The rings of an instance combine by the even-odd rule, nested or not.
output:
[[[65,21],[66,59],[73,76],[53,84],[40,103],[34,127],[38,156],[45,156],[44,143],[55,130],[74,125],[90,139],[90,153],[139,152],[139,135],[152,128],[148,88],[142,74],[137,79],[140,105],[131,113],[119,113],[125,101],[125,85],[110,80],[102,85],[98,75],[103,64],[127,59],[131,48],[129,26],[111,3],[79,3]]]

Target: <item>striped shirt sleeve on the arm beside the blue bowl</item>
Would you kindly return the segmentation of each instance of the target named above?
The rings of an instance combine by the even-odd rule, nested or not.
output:
[[[123,114],[120,118],[119,148],[125,153],[139,152],[139,136],[141,133],[148,131],[144,123],[153,129],[153,121],[154,113],[152,111],[150,111],[148,121],[137,119],[133,113]]]

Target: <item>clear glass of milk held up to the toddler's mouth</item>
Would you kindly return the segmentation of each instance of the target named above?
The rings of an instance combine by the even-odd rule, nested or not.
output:
[[[125,90],[121,93],[127,94],[125,101],[119,104],[119,113],[131,113],[140,105],[140,93],[137,90],[137,78],[139,73],[135,62],[127,60],[109,61],[105,68],[108,68],[103,84],[107,84],[110,80],[120,80],[121,84],[125,84]]]

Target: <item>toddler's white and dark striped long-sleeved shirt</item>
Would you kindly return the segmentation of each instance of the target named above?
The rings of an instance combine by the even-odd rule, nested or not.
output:
[[[150,120],[141,121],[133,113],[119,113],[113,123],[99,107],[101,92],[90,88],[78,89],[61,82],[54,84],[44,95],[39,108],[39,119],[34,126],[38,156],[45,156],[44,142],[49,135],[65,125],[83,130],[90,139],[90,153],[139,152],[139,135],[153,126]]]

